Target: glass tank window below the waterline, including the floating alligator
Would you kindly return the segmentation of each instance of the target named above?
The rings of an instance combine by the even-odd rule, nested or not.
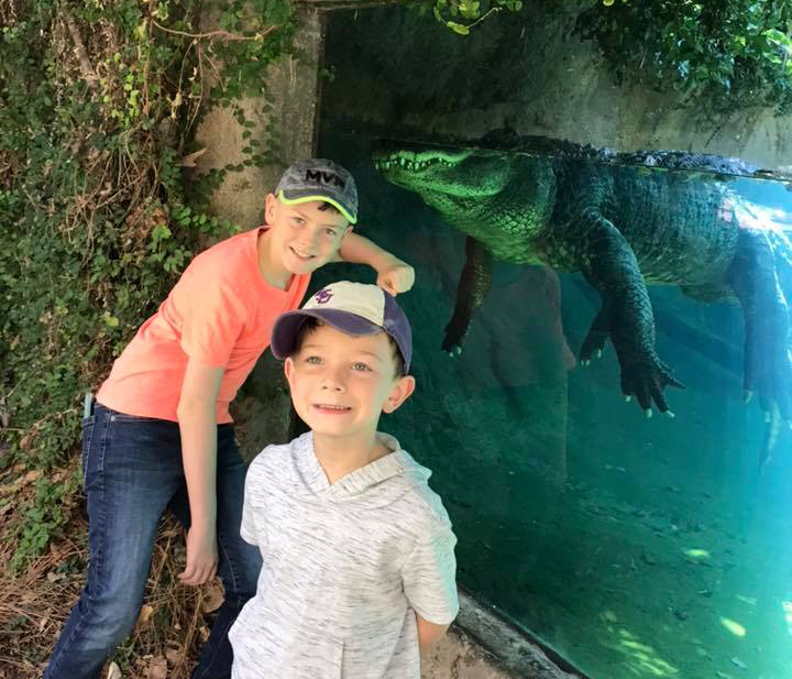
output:
[[[341,23],[330,22],[331,67],[344,63]],[[754,281],[759,297],[756,370],[787,407],[787,338],[761,321],[783,302],[767,298],[769,281],[792,294],[792,194],[486,143],[410,144],[396,112],[393,130],[337,113],[321,112],[320,153],[356,177],[360,232],[416,267],[399,300],[418,388],[382,426],[435,472],[460,584],[592,679],[792,677],[792,434],[765,423],[756,395],[744,403],[744,314],[723,298],[743,255],[748,283],[735,285]],[[625,374],[642,384],[647,309],[629,292],[642,288],[630,250],[602,220],[647,278],[657,355],[685,386],[663,392],[674,418],[622,394]],[[581,262],[610,295],[618,327],[605,331],[623,365],[610,339],[581,362],[601,308]],[[369,280],[341,265],[315,283],[339,276]]]

